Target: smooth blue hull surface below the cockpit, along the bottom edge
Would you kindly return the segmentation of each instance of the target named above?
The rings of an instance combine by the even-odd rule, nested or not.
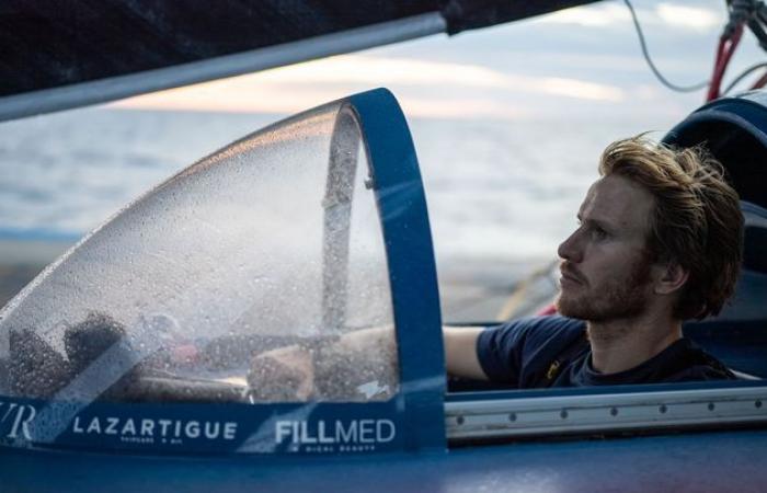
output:
[[[764,491],[767,432],[519,443],[446,454],[125,457],[0,448],[3,493]]]

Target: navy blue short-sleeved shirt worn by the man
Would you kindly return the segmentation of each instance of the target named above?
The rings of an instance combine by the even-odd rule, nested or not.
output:
[[[586,324],[564,317],[537,317],[489,328],[477,341],[485,375],[520,389],[617,386],[734,379],[713,356],[680,339],[641,365],[603,375],[592,367]]]

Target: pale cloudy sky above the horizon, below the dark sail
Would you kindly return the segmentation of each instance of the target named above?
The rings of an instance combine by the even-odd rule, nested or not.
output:
[[[707,80],[724,0],[634,0],[651,56],[677,84]],[[730,74],[760,61],[744,36]],[[726,79],[725,79],[726,80]],[[662,87],[644,61],[622,1],[427,38],[124,100],[113,105],[289,114],[387,87],[409,116],[530,119],[632,112],[675,119],[703,100]]]

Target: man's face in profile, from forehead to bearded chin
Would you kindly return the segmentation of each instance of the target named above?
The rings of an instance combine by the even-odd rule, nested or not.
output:
[[[579,228],[559,246],[565,317],[608,321],[642,313],[652,294],[646,237],[652,195],[626,177],[592,185],[579,210]]]

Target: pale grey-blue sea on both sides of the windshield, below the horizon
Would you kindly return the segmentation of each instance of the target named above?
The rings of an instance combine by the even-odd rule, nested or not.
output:
[[[96,106],[2,123],[0,239],[75,242],[169,176],[285,116]],[[448,318],[496,317],[529,273],[557,259],[605,146],[648,130],[661,138],[674,123],[410,118]],[[38,260],[7,295],[51,260]],[[485,307],[491,295],[497,300]]]

